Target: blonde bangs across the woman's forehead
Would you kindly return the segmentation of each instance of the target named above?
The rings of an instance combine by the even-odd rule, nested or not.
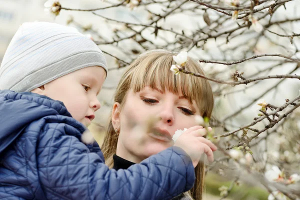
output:
[[[141,55],[127,70],[126,75],[130,77],[127,76],[130,79],[129,88],[134,92],[140,91],[144,86],[158,88],[163,92],[167,89],[176,95],[183,95],[190,102],[195,100],[203,116],[210,117],[213,106],[210,84],[193,75],[174,75],[170,70],[171,65],[175,64],[173,55],[175,54],[167,51],[152,51]],[[185,63],[185,69],[204,74],[199,64],[190,58]]]

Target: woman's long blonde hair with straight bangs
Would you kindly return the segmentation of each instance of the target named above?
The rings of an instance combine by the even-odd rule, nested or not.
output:
[[[125,101],[129,89],[134,92],[140,91],[144,86],[165,89],[174,94],[182,92],[189,101],[195,100],[203,117],[210,118],[213,107],[213,94],[211,86],[206,79],[180,73],[174,75],[170,70],[175,64],[172,53],[165,50],[149,51],[141,54],[134,60],[123,73],[115,91],[114,102],[120,103],[120,109]],[[188,71],[204,74],[198,62],[188,57],[185,65]],[[118,134],[114,131],[111,116],[105,131],[102,144],[102,152],[106,164],[111,168],[113,165],[112,155],[116,153]],[[196,181],[189,194],[194,199],[202,199],[204,164],[200,162],[195,167]]]

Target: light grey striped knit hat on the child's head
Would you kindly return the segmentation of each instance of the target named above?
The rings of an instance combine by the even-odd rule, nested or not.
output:
[[[12,37],[0,66],[0,89],[31,91],[87,66],[101,66],[102,51],[76,28],[50,23],[23,23]]]

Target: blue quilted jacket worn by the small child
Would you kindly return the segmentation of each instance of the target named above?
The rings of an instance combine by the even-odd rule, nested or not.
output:
[[[0,91],[0,199],[170,199],[190,189],[194,170],[179,147],[118,171],[60,101]]]

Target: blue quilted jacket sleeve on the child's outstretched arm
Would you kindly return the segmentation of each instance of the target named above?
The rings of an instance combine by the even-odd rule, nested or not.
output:
[[[193,186],[191,160],[179,147],[116,171],[65,131],[59,125],[44,128],[38,143],[38,175],[47,199],[171,199]]]

